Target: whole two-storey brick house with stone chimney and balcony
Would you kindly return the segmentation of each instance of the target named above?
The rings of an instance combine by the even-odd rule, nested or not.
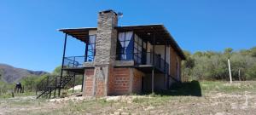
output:
[[[83,75],[83,95],[129,95],[168,89],[182,81],[182,49],[163,25],[118,26],[113,10],[98,13],[97,27],[66,34],[62,71]],[[84,43],[84,56],[66,57],[67,37]]]

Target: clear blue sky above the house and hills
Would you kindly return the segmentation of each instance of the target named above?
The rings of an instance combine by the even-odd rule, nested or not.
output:
[[[182,49],[222,51],[256,46],[255,0],[1,0],[0,63],[52,72],[61,65],[60,28],[94,27],[97,13],[124,15],[119,26],[163,24]],[[84,55],[68,37],[67,56]]]

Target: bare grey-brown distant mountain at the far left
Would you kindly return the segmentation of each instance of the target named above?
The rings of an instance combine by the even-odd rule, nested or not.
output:
[[[3,80],[6,83],[15,83],[27,76],[40,76],[44,74],[48,74],[48,72],[32,71],[0,63],[0,80]]]

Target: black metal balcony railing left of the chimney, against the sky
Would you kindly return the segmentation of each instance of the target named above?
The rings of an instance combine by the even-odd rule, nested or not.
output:
[[[70,56],[64,58],[64,68],[82,67],[84,64],[84,56]]]

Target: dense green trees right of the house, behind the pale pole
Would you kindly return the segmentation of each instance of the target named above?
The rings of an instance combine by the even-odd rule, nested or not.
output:
[[[229,80],[227,60],[230,59],[231,72],[235,80],[253,80],[256,78],[256,47],[234,51],[231,48],[224,52],[184,51],[187,60],[183,61],[183,76],[195,80]],[[240,71],[240,78],[239,78]]]

